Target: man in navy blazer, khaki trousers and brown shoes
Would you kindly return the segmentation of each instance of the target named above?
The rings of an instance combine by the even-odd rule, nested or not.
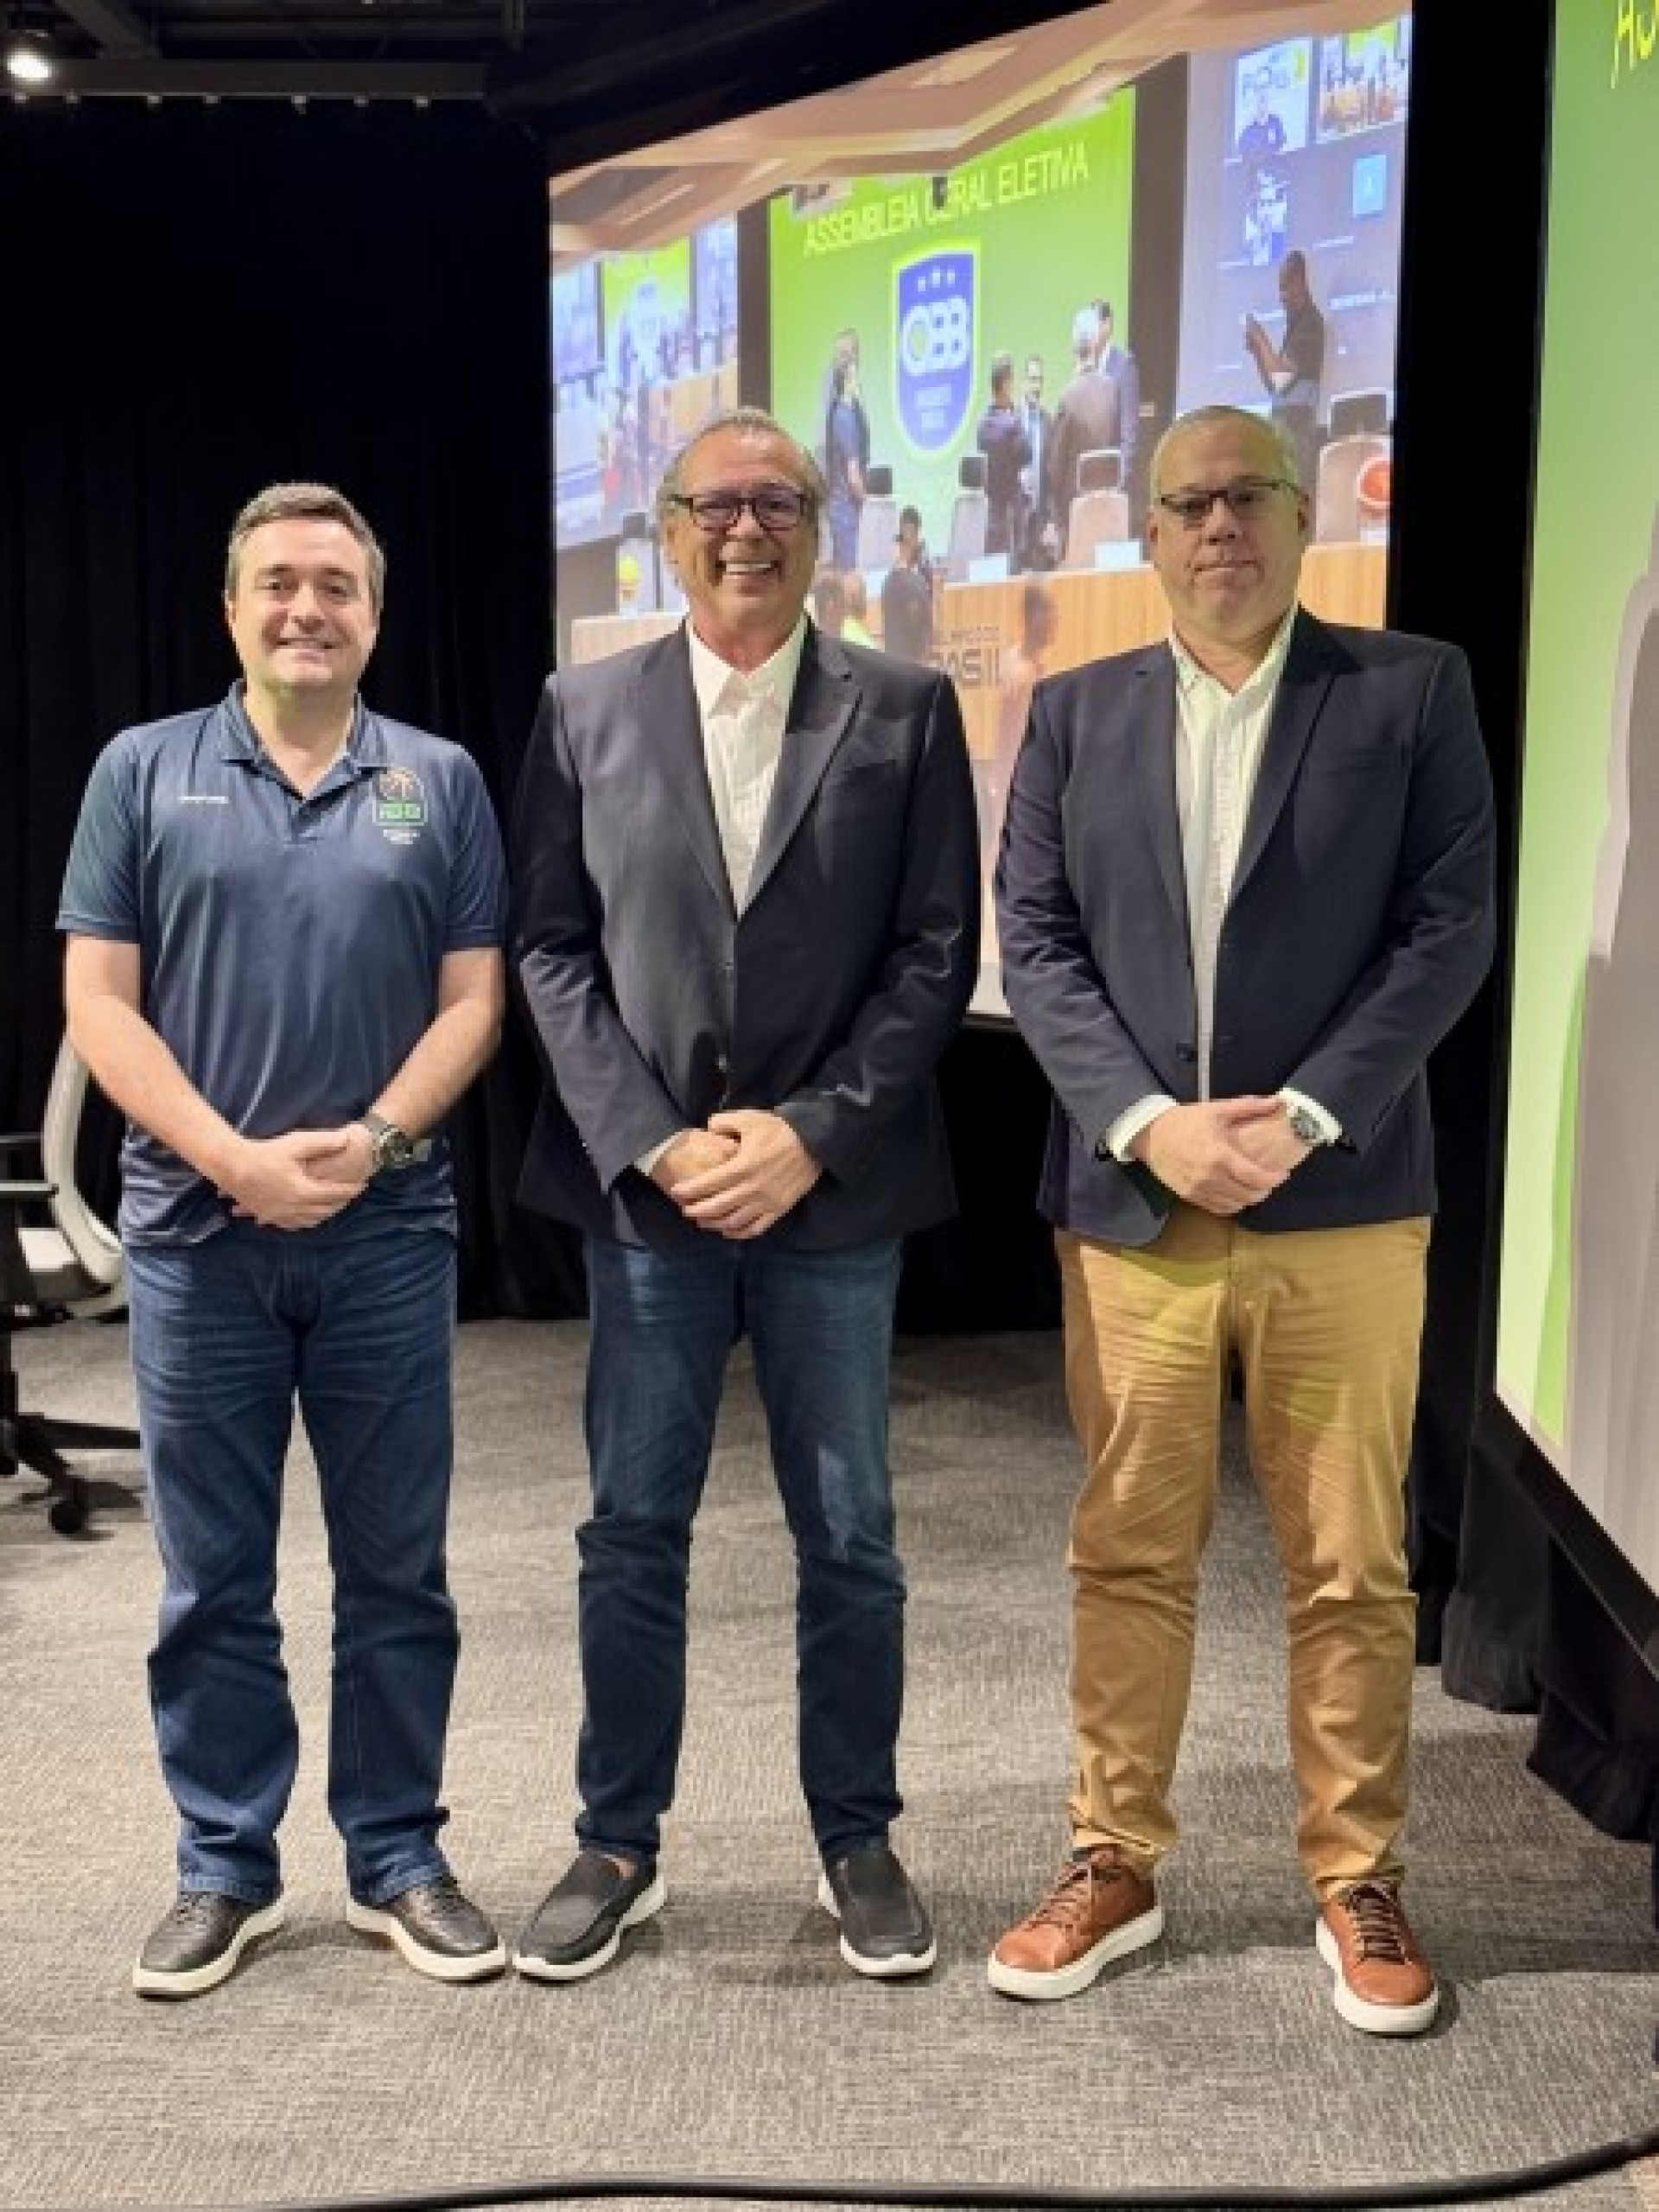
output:
[[[1298,1856],[1343,2020],[1429,2026],[1400,1907],[1405,1471],[1436,1203],[1425,1062],[1493,951],[1462,655],[1296,604],[1296,447],[1234,407],[1152,456],[1172,637],[1042,681],[998,865],[1004,991],[1055,1095],[1073,1856],[991,1953],[1068,1997],[1155,1942],[1230,1374],[1285,1575]]]

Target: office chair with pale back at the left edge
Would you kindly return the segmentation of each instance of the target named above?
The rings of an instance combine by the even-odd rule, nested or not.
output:
[[[24,1413],[13,1365],[13,1336],[60,1321],[91,1321],[126,1305],[122,1245],[82,1197],[75,1139],[86,1104],[86,1068],[64,1042],[51,1073],[46,1115],[38,1133],[0,1137],[0,1475],[20,1467],[46,1478],[46,1517],[60,1535],[86,1526],[91,1484],[66,1451],[137,1451],[135,1429],[91,1420]],[[38,1152],[42,1175],[15,1179],[11,1159]],[[31,1225],[27,1214],[44,1214]]]

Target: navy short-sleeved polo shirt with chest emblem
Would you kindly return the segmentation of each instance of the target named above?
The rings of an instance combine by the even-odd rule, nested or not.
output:
[[[502,942],[502,841],[460,745],[358,703],[345,754],[301,799],[241,695],[111,739],[58,927],[139,947],[144,1018],[243,1135],[338,1128],[431,1026],[442,956]],[[447,1144],[356,1203],[449,1228]],[[228,1219],[195,1168],[128,1126],[122,1237],[199,1243]]]

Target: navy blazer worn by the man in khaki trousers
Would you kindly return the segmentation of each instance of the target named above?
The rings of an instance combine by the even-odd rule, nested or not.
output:
[[[1152,1091],[1199,1097],[1168,644],[1042,681],[998,860],[1002,989],[1055,1095],[1040,1208],[1150,1243],[1170,1192],[1099,1157]],[[1455,646],[1298,613],[1214,982],[1212,1097],[1305,1091],[1343,1124],[1239,1219],[1433,1212],[1425,1062],[1493,956],[1493,794]]]

